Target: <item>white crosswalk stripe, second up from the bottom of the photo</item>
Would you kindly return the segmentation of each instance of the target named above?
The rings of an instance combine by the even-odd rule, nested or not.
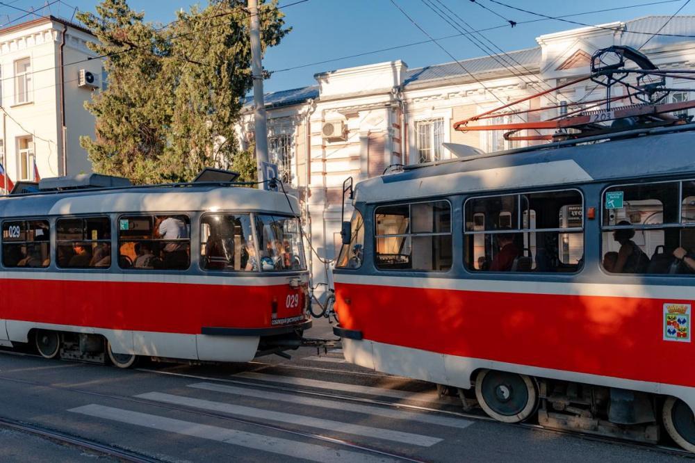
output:
[[[402,444],[411,444],[422,447],[430,447],[442,441],[438,437],[423,436],[420,434],[412,434],[411,432],[400,432],[382,428],[373,428],[371,426],[356,425],[351,423],[343,423],[342,421],[333,421],[313,416],[303,416],[283,412],[273,412],[254,407],[244,407],[243,405],[232,405],[227,403],[213,402],[211,400],[202,400],[193,397],[174,396],[172,394],[161,392],[148,392],[136,396],[147,400],[156,400],[157,402],[171,403],[174,405],[183,405],[205,410],[213,410],[215,412],[228,413],[238,416],[250,416],[255,419],[278,421],[280,423],[293,423],[309,428],[318,428],[332,430],[335,432],[345,432],[345,434],[355,434],[358,436],[373,437],[375,439],[384,439],[388,441],[400,442]]]

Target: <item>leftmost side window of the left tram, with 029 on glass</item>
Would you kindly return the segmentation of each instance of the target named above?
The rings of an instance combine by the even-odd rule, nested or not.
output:
[[[48,220],[2,224],[2,262],[6,267],[45,268],[51,263]]]

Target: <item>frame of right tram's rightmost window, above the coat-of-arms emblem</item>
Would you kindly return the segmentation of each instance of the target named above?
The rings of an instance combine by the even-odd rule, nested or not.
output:
[[[685,200],[687,200],[688,197],[694,197],[695,195],[689,195],[687,197],[684,197],[685,190],[684,190],[684,185],[687,183],[694,183],[694,185],[689,186],[688,190],[692,191],[695,188],[695,179],[693,178],[686,178],[686,179],[669,179],[669,180],[655,180],[655,181],[637,181],[637,182],[630,182],[630,183],[621,183],[621,184],[610,184],[605,186],[603,190],[601,190],[601,195],[600,195],[600,209],[601,209],[601,216],[600,216],[600,255],[601,255],[601,262],[600,262],[600,269],[603,273],[606,275],[610,275],[612,277],[616,276],[625,276],[625,275],[640,275],[640,276],[650,276],[650,277],[692,277],[695,275],[695,268],[690,266],[687,262],[683,262],[683,259],[677,259],[673,255],[673,251],[676,250],[678,247],[684,247],[684,241],[690,241],[692,243],[695,243],[695,220],[692,220],[692,218],[688,218],[687,216],[684,216],[684,209],[685,206],[690,205],[690,204],[685,204]],[[668,186],[669,184],[673,184],[671,188],[673,188],[672,191],[668,191],[667,188],[662,188],[664,192],[669,193],[670,195],[673,195],[673,199],[671,200],[672,203],[669,206],[669,203],[666,202],[664,203],[663,200],[658,199],[656,196],[654,196],[654,200],[660,202],[661,204],[661,211],[660,214],[662,216],[661,222],[655,223],[655,224],[649,224],[649,223],[632,223],[631,220],[637,216],[637,213],[632,213],[632,216],[630,216],[629,211],[626,211],[624,214],[628,218],[628,222],[631,222],[630,225],[610,225],[610,220],[612,217],[614,219],[617,219],[616,216],[614,216],[612,213],[609,211],[612,211],[614,209],[607,209],[606,208],[606,194],[611,192],[611,190],[618,190],[619,188],[623,188],[623,204],[628,203],[629,206],[629,201],[626,201],[625,199],[625,188],[641,188],[641,189],[646,189],[648,191],[648,188],[652,187],[656,190],[658,186]],[[675,188],[674,188],[675,187]],[[637,190],[639,192],[639,190]],[[637,200],[637,201],[646,201],[651,198],[646,198],[645,200]],[[665,199],[665,197],[664,197]],[[635,201],[635,200],[633,200]],[[623,208],[615,208],[615,209],[626,209],[626,206],[623,206]],[[623,214],[621,213],[621,216]],[[652,214],[654,215],[654,214]],[[649,218],[649,216],[648,216]],[[665,218],[669,218],[669,220],[664,220]],[[609,224],[609,225],[606,225]],[[633,241],[633,238],[637,236],[637,232],[641,232],[641,236],[637,238],[637,242],[635,243],[641,250],[646,255],[647,260],[641,260],[638,261],[640,262],[640,265],[642,268],[646,265],[646,268],[644,272],[614,272],[612,269],[606,268],[605,264],[607,263],[605,261],[606,256],[609,252],[615,252],[614,250],[611,249],[612,243],[616,242],[616,233],[620,233],[621,230],[628,230],[632,233],[632,236],[629,236],[628,239],[635,243]],[[684,232],[689,231],[692,232],[693,238],[685,239],[684,238]],[[630,232],[628,232],[628,235],[630,235]],[[655,233],[662,232],[662,235],[659,237],[657,235],[657,238],[655,243],[659,243],[662,241],[662,244],[655,244],[653,247],[654,249],[651,250],[651,239],[648,242],[648,237],[652,236]],[[649,236],[647,234],[650,233]],[[613,235],[613,236],[610,236]],[[627,235],[626,235],[627,237]],[[644,241],[644,245],[641,245],[641,243]],[[671,243],[669,243],[669,241]],[[674,241],[678,241],[678,245],[676,247],[673,246]],[[616,247],[616,245],[613,245]],[[668,247],[667,247],[668,246]],[[644,249],[643,247],[646,247]],[[661,252],[659,252],[661,248]],[[652,252],[653,251],[653,252]],[[687,251],[687,249],[686,249]],[[619,251],[618,251],[619,253]],[[612,259],[617,259],[618,257],[614,256]],[[689,258],[689,261],[692,261],[695,264],[695,246],[691,247],[691,252],[687,252],[685,254],[684,259]],[[643,259],[640,257],[640,259]],[[680,262],[678,262],[680,260]],[[614,264],[613,264],[614,265]]]

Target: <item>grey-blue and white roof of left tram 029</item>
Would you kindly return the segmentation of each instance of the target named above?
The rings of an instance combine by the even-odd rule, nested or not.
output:
[[[296,214],[300,204],[284,193],[231,186],[134,186],[0,197],[1,217],[218,210]]]

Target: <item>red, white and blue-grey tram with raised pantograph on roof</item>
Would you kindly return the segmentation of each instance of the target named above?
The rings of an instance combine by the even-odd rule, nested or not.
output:
[[[625,48],[594,65],[605,53],[641,59]],[[592,77],[654,70],[630,69]],[[625,82],[619,99],[658,90]],[[668,434],[695,452],[695,104],[659,101],[464,121],[455,129],[551,143],[452,145],[459,159],[346,188],[334,332],[347,361],[444,385],[498,421],[648,443]]]

